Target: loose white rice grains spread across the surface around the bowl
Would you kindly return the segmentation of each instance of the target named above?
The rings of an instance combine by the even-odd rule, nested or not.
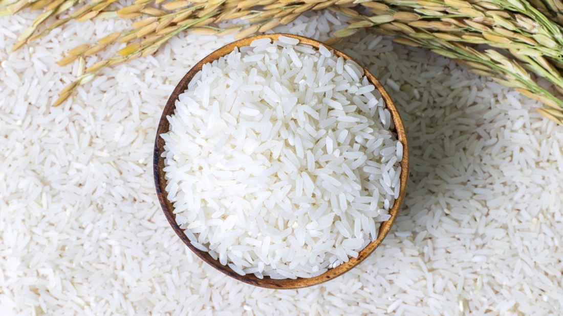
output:
[[[0,18],[0,315],[561,315],[563,128],[537,102],[377,34],[338,44],[401,112],[405,206],[344,276],[265,290],[182,244],[152,175],[168,95],[233,38],[178,36],[51,108],[75,71],[61,53],[125,24],[73,22],[8,53],[37,15]],[[338,24],[320,11],[275,31],[323,40]]]

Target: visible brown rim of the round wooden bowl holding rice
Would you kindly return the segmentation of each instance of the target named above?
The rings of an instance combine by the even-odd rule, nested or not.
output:
[[[163,171],[164,158],[161,157],[161,154],[164,152],[165,142],[160,137],[160,134],[166,134],[166,132],[168,132],[169,130],[169,123],[166,116],[172,115],[174,113],[174,109],[176,108],[175,101],[178,99],[178,95],[180,95],[181,93],[184,92],[184,90],[187,89],[187,84],[194,77],[194,75],[198,73],[198,71],[202,70],[202,66],[205,63],[211,63],[215,61],[215,59],[225,56],[226,54],[229,54],[230,52],[233,51],[235,47],[240,48],[243,46],[248,46],[253,40],[261,39],[261,38],[270,38],[272,40],[276,40],[280,35],[288,36],[291,38],[297,38],[301,41],[301,43],[309,44],[312,47],[315,47],[316,49],[319,49],[319,45],[324,45],[329,49],[333,49],[334,54],[336,54],[336,56],[342,56],[344,59],[352,59],[348,57],[346,54],[339,52],[336,49],[329,47],[328,45],[325,45],[323,43],[320,43],[314,39],[310,39],[298,35],[291,35],[291,34],[262,34],[262,35],[252,36],[249,38],[237,40],[234,43],[230,43],[224,47],[221,47],[220,49],[217,49],[217,51],[209,54],[209,56],[203,58],[202,61],[198,62],[193,68],[191,68],[191,70],[187,72],[187,74],[180,81],[180,83],[178,83],[176,89],[174,89],[174,91],[172,92],[172,95],[170,95],[170,98],[168,99],[168,102],[164,107],[162,117],[160,117],[160,122],[158,123],[157,137],[154,143],[153,171],[154,171],[154,184],[157,189],[158,200],[160,201],[160,206],[162,207],[164,215],[168,219],[168,222],[170,223],[174,231],[176,231],[176,234],[180,237],[182,241],[184,241],[184,244],[186,244],[191,249],[191,251],[194,251],[194,253],[198,255],[199,258],[202,258],[205,262],[211,264],[213,268],[216,268],[218,271],[221,271],[227,274],[227,276],[233,277],[236,280],[260,287],[287,289],[287,288],[301,288],[301,287],[318,285],[320,283],[327,282],[329,280],[332,280],[333,278],[341,276],[343,273],[349,271],[350,269],[358,265],[360,262],[362,262],[365,258],[368,257],[368,255],[370,255],[373,252],[373,250],[377,248],[377,246],[379,246],[379,244],[381,244],[381,241],[385,238],[385,236],[387,236],[387,233],[391,229],[391,226],[393,225],[393,222],[395,221],[395,218],[399,213],[399,209],[401,208],[401,205],[403,205],[403,200],[405,199],[406,184],[408,182],[408,177],[409,177],[409,154],[408,154],[408,145],[406,143],[405,129],[403,127],[403,121],[401,121],[401,117],[399,116],[399,112],[397,112],[397,109],[395,108],[395,104],[393,103],[393,101],[391,100],[391,98],[387,94],[387,91],[385,91],[381,83],[379,83],[379,81],[377,81],[377,79],[372,74],[370,74],[366,68],[362,66],[365,76],[368,77],[370,83],[376,86],[376,88],[379,90],[379,93],[381,93],[383,99],[385,99],[385,102],[387,103],[387,109],[388,111],[391,112],[391,117],[395,123],[395,129],[396,129],[395,132],[397,134],[397,138],[403,144],[403,160],[400,163],[401,187],[400,187],[399,198],[395,200],[395,204],[389,211],[389,214],[391,214],[391,218],[388,221],[381,223],[381,226],[379,227],[379,233],[377,235],[377,239],[370,242],[363,250],[361,250],[358,255],[358,258],[350,258],[348,262],[342,263],[336,268],[328,269],[327,272],[321,274],[320,276],[313,278],[297,278],[295,280],[292,279],[275,280],[268,276],[264,276],[263,279],[259,279],[256,276],[254,276],[254,274],[250,274],[250,273],[245,276],[240,276],[239,274],[231,270],[231,268],[229,268],[228,266],[219,263],[219,260],[213,259],[211,255],[209,255],[209,253],[196,249],[193,245],[191,245],[191,242],[187,238],[186,234],[184,233],[184,230],[182,230],[176,223],[176,216],[175,214],[173,214],[174,208],[172,206],[172,203],[168,201],[166,191],[164,190],[167,181],[166,178],[164,177],[165,175],[165,172]],[[360,64],[358,63],[358,65]]]

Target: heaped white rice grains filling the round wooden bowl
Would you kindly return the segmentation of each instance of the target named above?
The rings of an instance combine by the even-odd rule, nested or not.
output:
[[[168,200],[195,248],[258,278],[358,257],[399,197],[403,145],[351,60],[287,36],[203,65],[168,116]]]

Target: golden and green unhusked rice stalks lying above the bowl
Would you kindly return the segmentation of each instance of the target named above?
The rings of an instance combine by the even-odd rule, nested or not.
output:
[[[97,73],[109,65],[154,53],[172,36],[187,29],[198,34],[239,32],[236,37],[242,38],[257,31],[268,31],[279,24],[288,24],[302,12],[328,8],[352,17],[347,28],[334,33],[335,37],[329,39],[329,43],[355,34],[358,29],[374,28],[381,33],[398,36],[395,42],[430,48],[470,67],[475,74],[494,76],[497,82],[528,91],[524,93],[549,106],[563,107],[561,100],[534,83],[529,75],[533,72],[545,77],[563,91],[560,73],[563,69],[563,16],[560,14],[563,5],[557,5],[559,0],[174,0],[163,4],[162,10],[149,6],[153,0],[137,0],[117,11],[102,11],[114,1],[86,4],[39,34],[35,34],[39,24],[73,7],[78,0],[34,1],[33,8],[47,7],[48,10],[20,35],[14,49],[73,19],[144,17],[132,22],[132,30],[111,34],[96,44],[80,45],[59,61],[60,65],[66,65],[77,58],[100,52],[116,40],[128,43],[118,52],[117,59],[97,62],[84,70]],[[29,0],[1,0],[0,5],[11,6],[10,13],[15,13],[28,6],[24,2],[30,3]],[[155,4],[161,2],[154,1]],[[257,5],[262,7],[256,8]],[[242,31],[240,26],[217,29],[211,25],[238,18],[249,22]],[[131,43],[136,39],[140,43]],[[490,50],[476,49],[476,44],[489,44],[504,53],[497,55]],[[83,84],[85,81],[80,82]]]

